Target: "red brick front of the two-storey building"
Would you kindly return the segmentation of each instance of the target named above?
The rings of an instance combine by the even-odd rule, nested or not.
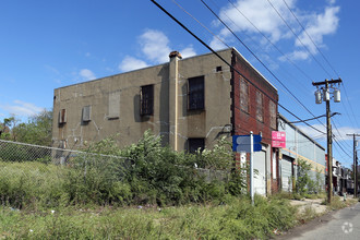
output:
[[[238,70],[232,70],[232,106],[231,106],[231,122],[233,125],[233,135],[245,135],[252,131],[254,134],[262,134],[262,144],[266,145],[271,149],[271,156],[273,156],[272,144],[272,131],[277,130],[277,103],[278,94],[277,89],[271,85],[247,60],[244,60],[236,50],[232,51],[232,67]],[[242,80],[241,80],[242,79]],[[241,83],[245,82],[248,91],[248,107],[243,107],[240,104],[240,97],[242,100],[244,96],[241,96]],[[256,93],[257,92],[257,93]],[[273,101],[273,104],[271,104]],[[274,105],[275,104],[275,105]],[[271,105],[273,105],[273,111],[271,113]],[[275,108],[275,112],[274,112]],[[248,109],[244,110],[244,109]],[[261,115],[262,113],[262,115]],[[275,115],[275,116],[274,116]],[[273,119],[272,119],[273,118]],[[275,122],[274,122],[275,121]],[[237,160],[239,157],[237,157]],[[249,159],[249,158],[248,158]],[[276,157],[278,159],[278,157]],[[273,172],[273,160],[268,160],[271,176],[268,178],[272,193],[277,192],[278,189],[278,168],[276,166],[276,172]],[[276,160],[278,164],[278,160]],[[273,178],[276,175],[276,179]]]

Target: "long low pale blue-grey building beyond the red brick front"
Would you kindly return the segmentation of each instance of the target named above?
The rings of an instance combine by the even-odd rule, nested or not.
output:
[[[311,165],[311,179],[325,190],[325,148],[281,115],[279,115],[278,131],[286,133],[286,148],[281,148],[279,156],[281,190],[292,191],[292,181],[297,179],[298,159]]]

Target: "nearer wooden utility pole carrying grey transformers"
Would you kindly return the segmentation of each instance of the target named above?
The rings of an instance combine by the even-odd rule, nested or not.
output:
[[[329,109],[329,84],[331,88],[333,87],[333,84],[341,83],[341,79],[338,80],[325,80],[324,82],[317,82],[312,83],[313,86],[317,87],[317,91],[315,92],[316,97],[316,104],[321,104],[322,99],[326,101],[326,135],[327,135],[327,203],[332,203],[332,194],[333,194],[333,133],[332,133],[332,122],[331,122],[331,109]],[[321,89],[319,89],[319,86],[325,85],[325,87],[322,87],[323,96],[321,93]],[[334,101],[339,103],[340,101],[340,92],[338,88],[334,88],[333,91],[334,95]]]

